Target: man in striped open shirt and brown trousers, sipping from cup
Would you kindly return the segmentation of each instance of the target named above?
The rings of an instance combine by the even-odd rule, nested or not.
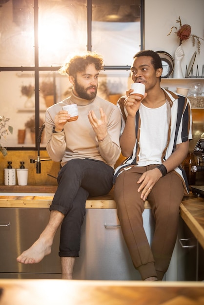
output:
[[[125,162],[114,175],[114,197],[122,233],[134,267],[143,280],[162,280],[175,246],[179,206],[188,185],[181,163],[192,139],[189,100],[160,86],[163,72],[159,55],[151,50],[134,56],[133,82],[145,85],[141,98],[121,97],[120,145]],[[151,246],[143,229],[144,202],[155,219]]]

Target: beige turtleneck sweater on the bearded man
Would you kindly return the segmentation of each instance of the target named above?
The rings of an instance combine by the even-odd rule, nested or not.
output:
[[[120,156],[121,149],[119,137],[121,131],[121,114],[112,103],[96,96],[87,105],[83,99],[74,95],[49,107],[45,113],[45,133],[47,138],[46,149],[53,161],[61,161],[61,166],[71,159],[90,158],[100,160],[114,167]],[[87,102],[87,101],[86,101]],[[55,115],[62,110],[62,106],[77,104],[79,118],[76,121],[67,122],[64,130],[53,133]],[[100,118],[100,108],[107,116],[108,133],[103,141],[97,140],[96,134],[88,120],[89,111],[93,110]]]

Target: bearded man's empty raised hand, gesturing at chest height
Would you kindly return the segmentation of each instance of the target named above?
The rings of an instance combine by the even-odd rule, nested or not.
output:
[[[101,114],[100,119],[98,119],[96,117],[96,114],[94,113],[93,110],[89,111],[89,114],[88,114],[89,122],[98,137],[98,141],[104,140],[105,136],[108,133],[107,117],[106,117],[106,114],[103,112],[102,108],[100,108],[100,114]]]

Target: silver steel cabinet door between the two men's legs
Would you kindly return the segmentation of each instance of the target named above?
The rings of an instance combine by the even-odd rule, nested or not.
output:
[[[143,213],[144,229],[151,242],[151,210]],[[115,209],[86,210],[80,257],[74,268],[75,279],[141,280],[125,245]]]

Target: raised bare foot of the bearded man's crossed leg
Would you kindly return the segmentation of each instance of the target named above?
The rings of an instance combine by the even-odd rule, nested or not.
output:
[[[40,237],[30,248],[17,257],[17,262],[22,264],[39,263],[45,255],[50,254],[51,246],[44,238]]]

